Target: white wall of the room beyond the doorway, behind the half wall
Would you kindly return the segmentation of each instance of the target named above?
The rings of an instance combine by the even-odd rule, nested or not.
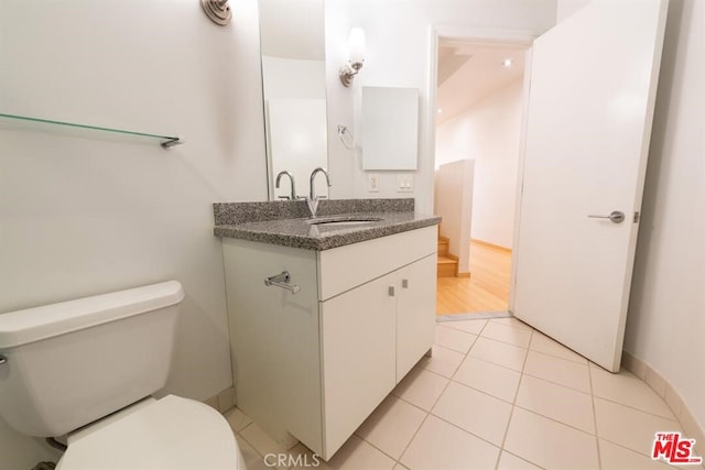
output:
[[[505,87],[436,128],[436,165],[475,160],[473,239],[511,248],[523,80]]]

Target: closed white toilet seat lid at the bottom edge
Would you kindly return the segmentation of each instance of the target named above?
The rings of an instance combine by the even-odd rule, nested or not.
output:
[[[167,395],[120,414],[69,436],[57,469],[245,470],[228,422],[210,406]]]

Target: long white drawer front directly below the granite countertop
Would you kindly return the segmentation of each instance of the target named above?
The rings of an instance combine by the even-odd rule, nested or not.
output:
[[[318,299],[326,300],[383,276],[436,249],[437,227],[433,226],[321,251]]]

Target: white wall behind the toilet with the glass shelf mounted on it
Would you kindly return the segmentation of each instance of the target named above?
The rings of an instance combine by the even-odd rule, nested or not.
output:
[[[0,2],[0,112],[186,140],[0,130],[0,313],[178,280],[166,390],[198,400],[232,380],[212,203],[267,197],[257,1],[231,8],[219,28],[197,1]],[[0,468],[42,446],[0,423]]]

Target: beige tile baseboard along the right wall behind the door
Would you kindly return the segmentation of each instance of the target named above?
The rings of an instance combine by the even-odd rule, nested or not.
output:
[[[685,436],[695,439],[695,455],[705,457],[705,429],[671,382],[631,352],[622,351],[621,364],[663,398],[683,426]]]

